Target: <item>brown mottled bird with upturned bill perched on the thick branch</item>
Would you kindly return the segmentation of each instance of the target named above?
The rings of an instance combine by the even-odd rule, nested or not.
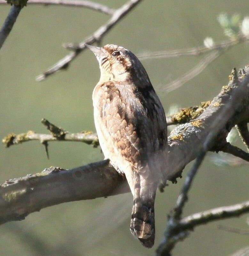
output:
[[[94,123],[105,159],[126,176],[133,194],[130,231],[154,245],[154,202],[167,151],[165,112],[147,72],[129,50],[86,45],[96,56],[100,79],[92,94]]]

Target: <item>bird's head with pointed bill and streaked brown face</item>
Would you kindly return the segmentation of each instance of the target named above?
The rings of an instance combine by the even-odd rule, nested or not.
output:
[[[135,78],[150,83],[142,63],[129,50],[118,45],[86,46],[95,54],[99,62],[100,82],[121,82]]]

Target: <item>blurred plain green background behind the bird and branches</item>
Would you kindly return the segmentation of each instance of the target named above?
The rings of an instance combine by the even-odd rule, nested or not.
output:
[[[101,1],[113,8],[124,0]],[[0,24],[10,7],[0,5]],[[221,12],[249,15],[247,1],[149,1],[137,5],[101,41],[130,49],[134,54],[181,49],[227,39],[217,16]],[[61,45],[80,42],[109,17],[85,8],[34,6],[24,8],[0,51],[1,137],[32,129],[47,132],[46,118],[70,132],[95,130],[92,90],[99,79],[94,55],[84,51],[66,71],[43,82],[35,77],[67,54]],[[168,83],[193,68],[204,56],[149,59],[142,63],[165,111],[172,104],[197,105],[217,95],[233,67],[249,64],[248,44],[236,45],[182,87],[166,93]],[[237,142],[239,143],[239,142]],[[241,144],[239,144],[241,145]],[[50,159],[39,142],[0,147],[0,181],[40,172],[51,165],[73,168],[103,158],[100,149],[76,142],[49,143]],[[183,171],[183,179],[190,169]],[[248,200],[248,164],[217,166],[207,157],[190,191],[184,216]],[[170,184],[156,199],[156,241],[148,250],[129,231],[131,194],[70,202],[32,213],[23,221],[0,227],[0,255],[154,255],[165,230],[167,214],[183,183]],[[173,255],[230,255],[248,246],[248,236],[229,233],[218,224],[248,229],[248,216],[214,222],[195,229],[178,243]],[[101,225],[99,225],[101,223]]]

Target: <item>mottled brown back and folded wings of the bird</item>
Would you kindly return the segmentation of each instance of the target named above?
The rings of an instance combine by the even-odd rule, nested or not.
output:
[[[112,162],[115,162],[111,159],[113,156],[121,156],[136,170],[143,168],[167,141],[160,100],[153,87],[146,95],[143,93],[130,85],[108,82],[99,85],[93,95],[95,111],[97,109],[95,124],[101,133],[100,145],[105,156]]]

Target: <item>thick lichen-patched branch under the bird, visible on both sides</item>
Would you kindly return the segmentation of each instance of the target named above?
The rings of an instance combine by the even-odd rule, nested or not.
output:
[[[167,164],[161,188],[166,185],[166,180],[176,182],[184,167],[198,157],[179,196],[172,225],[180,219],[178,216],[181,216],[191,181],[206,150],[215,148],[216,141],[226,137],[235,124],[249,120],[249,67],[245,71],[246,75],[238,78],[233,70],[229,84],[222,87],[220,94],[198,118],[179,125],[168,137]],[[62,202],[129,191],[127,182],[107,163],[101,161],[71,170],[46,169],[42,173],[6,181],[0,186],[0,222],[24,219],[31,212]],[[124,187],[120,188],[122,184]],[[181,234],[186,235],[185,231]]]

